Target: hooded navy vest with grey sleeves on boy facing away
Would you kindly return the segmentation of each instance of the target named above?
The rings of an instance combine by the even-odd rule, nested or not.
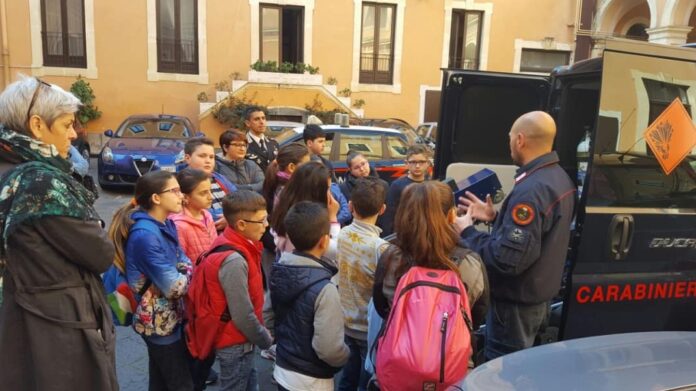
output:
[[[330,281],[336,271],[326,260],[301,252],[283,253],[273,265],[276,368],[284,375],[332,379],[348,360],[341,301]]]

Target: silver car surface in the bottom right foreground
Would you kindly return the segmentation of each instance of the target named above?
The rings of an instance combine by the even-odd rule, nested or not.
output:
[[[694,368],[696,332],[612,334],[499,357],[469,373],[456,389],[696,390]]]

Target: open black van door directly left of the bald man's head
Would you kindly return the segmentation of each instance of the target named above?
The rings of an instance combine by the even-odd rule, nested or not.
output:
[[[520,115],[544,110],[549,90],[543,76],[444,70],[435,177],[459,181],[489,168],[509,192],[516,168],[508,133]]]

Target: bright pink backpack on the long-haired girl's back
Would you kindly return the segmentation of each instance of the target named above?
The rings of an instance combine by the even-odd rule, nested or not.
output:
[[[446,390],[469,369],[471,311],[452,270],[414,266],[401,277],[377,344],[383,391]]]

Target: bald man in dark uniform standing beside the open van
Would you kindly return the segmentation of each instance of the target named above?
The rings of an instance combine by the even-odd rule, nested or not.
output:
[[[533,111],[510,129],[510,156],[520,168],[500,212],[471,193],[459,199],[456,225],[488,270],[491,306],[486,318],[487,360],[528,348],[558,293],[575,207],[575,184],[553,152],[556,124]],[[474,221],[493,222],[490,234]]]

